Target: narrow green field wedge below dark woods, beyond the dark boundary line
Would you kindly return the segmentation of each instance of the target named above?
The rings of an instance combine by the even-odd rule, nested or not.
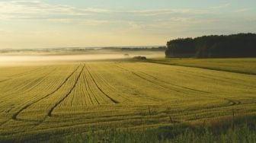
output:
[[[183,65],[197,68],[208,68],[219,71],[232,71],[256,75],[256,58],[237,59],[153,59],[150,62],[167,65]]]

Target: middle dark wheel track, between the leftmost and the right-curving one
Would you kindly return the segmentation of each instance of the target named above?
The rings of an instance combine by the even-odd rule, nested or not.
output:
[[[82,70],[80,71],[79,75],[78,75],[78,78],[75,79],[75,84],[73,84],[72,88],[70,89],[70,91],[68,92],[68,94],[66,94],[61,100],[59,100],[59,102],[57,102],[54,106],[52,106],[50,108],[50,110],[48,111],[47,113],[47,116],[51,117],[52,116],[52,113],[53,113],[53,110],[59,106],[60,103],[62,103],[63,100],[65,100],[67,97],[69,97],[69,95],[72,93],[72,91],[75,89],[77,83],[78,83],[78,79],[81,77],[82,75],[82,71],[84,71],[84,68],[85,68],[85,65],[83,65],[82,67]]]

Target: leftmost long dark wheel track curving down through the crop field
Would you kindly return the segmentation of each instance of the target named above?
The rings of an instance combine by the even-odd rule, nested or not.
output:
[[[80,65],[79,65],[77,68],[75,68],[75,71],[77,71],[79,67],[80,67]],[[75,71],[73,71],[73,72],[65,79],[65,81],[63,81],[62,84],[60,84],[60,86],[56,88],[56,90],[54,90],[54,91],[51,92],[50,94],[47,94],[47,95],[44,96],[44,97],[41,97],[41,98],[38,99],[38,100],[35,100],[35,101],[32,102],[32,103],[28,103],[27,105],[23,106],[23,107],[21,108],[21,110],[18,110],[17,113],[14,113],[14,115],[11,117],[11,119],[17,120],[17,116],[18,116],[22,111],[26,110],[28,107],[32,106],[34,103],[38,103],[40,100],[43,100],[43,99],[45,99],[46,97],[49,97],[50,95],[56,93],[56,91],[59,91],[59,89],[60,89],[64,84],[66,84],[66,82],[69,80],[69,78],[71,78],[72,75],[75,74]]]

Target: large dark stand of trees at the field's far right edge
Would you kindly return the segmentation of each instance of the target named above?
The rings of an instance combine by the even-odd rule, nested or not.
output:
[[[171,40],[167,43],[168,57],[231,58],[255,57],[256,34],[238,33],[228,36],[203,36]]]

